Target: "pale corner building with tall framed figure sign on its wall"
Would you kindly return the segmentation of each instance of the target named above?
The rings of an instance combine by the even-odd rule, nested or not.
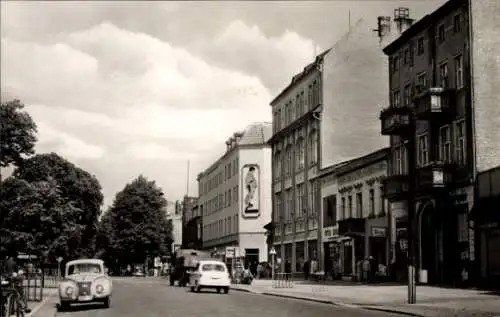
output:
[[[267,261],[266,230],[271,221],[270,123],[254,123],[226,141],[226,152],[198,175],[203,248]],[[232,250],[229,252],[228,250]],[[231,264],[231,261],[228,261]]]

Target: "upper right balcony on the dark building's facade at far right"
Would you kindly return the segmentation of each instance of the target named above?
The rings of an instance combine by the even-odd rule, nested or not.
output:
[[[453,89],[429,88],[415,97],[415,115],[420,120],[445,119],[453,105]]]

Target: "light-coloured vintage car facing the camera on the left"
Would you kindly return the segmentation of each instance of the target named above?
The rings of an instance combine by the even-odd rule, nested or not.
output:
[[[64,279],[59,283],[59,309],[74,303],[111,304],[113,283],[99,259],[80,259],[66,263]]]

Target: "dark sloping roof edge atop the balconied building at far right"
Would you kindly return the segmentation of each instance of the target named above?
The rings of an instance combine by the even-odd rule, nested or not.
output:
[[[388,44],[383,49],[384,53],[386,55],[393,54],[396,50],[398,50],[401,46],[407,43],[411,38],[416,36],[422,30],[426,29],[429,25],[436,23],[437,21],[441,20],[441,18],[446,16],[450,11],[466,3],[467,0],[449,0],[445,2],[442,6],[440,6],[433,12],[425,15],[422,19],[415,22],[412,26],[406,29],[406,31],[404,31],[397,39]]]

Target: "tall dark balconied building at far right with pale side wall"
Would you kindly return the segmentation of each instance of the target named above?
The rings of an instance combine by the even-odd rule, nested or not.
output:
[[[414,24],[407,10],[397,10],[404,32],[384,48],[390,105],[380,119],[391,144],[385,195],[397,218],[397,245],[405,245],[407,222],[418,223],[417,268],[429,283],[457,285],[478,262],[469,222],[473,180],[500,165],[500,98],[492,85],[500,69],[493,40],[499,8],[498,1],[453,0]],[[416,210],[410,220],[408,197]],[[405,262],[399,255],[396,262]]]

